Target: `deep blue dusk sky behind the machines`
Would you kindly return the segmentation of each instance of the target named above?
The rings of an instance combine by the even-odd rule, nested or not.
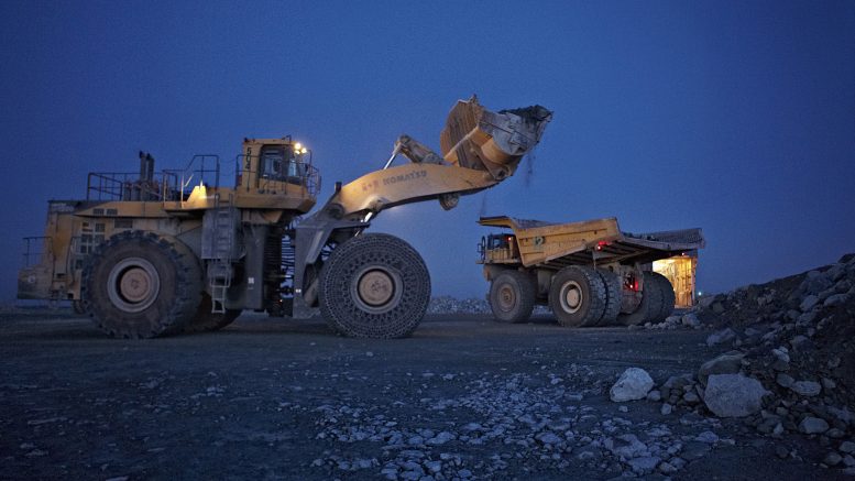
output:
[[[322,204],[402,133],[438,151],[472,94],[555,117],[530,173],[372,226],[421,252],[435,295],[486,292],[480,214],[701,227],[710,293],[855,251],[853,1],[4,0],[0,39],[0,300],[46,200],[84,197],[90,171],[291,134]]]

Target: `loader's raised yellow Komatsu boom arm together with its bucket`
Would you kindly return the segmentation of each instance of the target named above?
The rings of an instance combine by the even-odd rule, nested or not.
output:
[[[317,278],[308,270],[318,265],[325,245],[359,234],[384,209],[439,199],[448,210],[461,195],[501,183],[537,145],[551,116],[540,106],[492,112],[475,97],[460,100],[440,134],[443,155],[402,135],[383,168],[337,185],[326,205],[295,229],[294,315],[302,317],[300,308],[317,299]],[[392,166],[398,155],[410,162]]]

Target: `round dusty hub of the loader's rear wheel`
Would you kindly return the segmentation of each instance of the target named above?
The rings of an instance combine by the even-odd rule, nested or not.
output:
[[[151,306],[160,292],[157,270],[145,259],[124,259],[110,270],[107,295],[116,307],[127,313],[139,313]]]

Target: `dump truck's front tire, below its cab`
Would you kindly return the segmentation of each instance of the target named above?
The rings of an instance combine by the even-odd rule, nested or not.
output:
[[[525,323],[535,308],[535,282],[527,273],[503,271],[490,284],[490,308],[502,323]]]

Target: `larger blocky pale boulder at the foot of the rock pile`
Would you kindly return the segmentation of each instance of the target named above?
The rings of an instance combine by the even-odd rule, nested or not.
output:
[[[742,374],[712,374],[706,380],[704,403],[719,417],[743,417],[760,411],[768,394],[759,381]]]

